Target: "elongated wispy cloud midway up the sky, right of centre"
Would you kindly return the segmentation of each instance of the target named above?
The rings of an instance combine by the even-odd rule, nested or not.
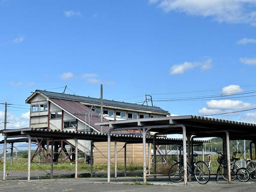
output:
[[[184,62],[183,64],[173,65],[170,68],[170,74],[176,75],[176,74],[183,74],[185,71],[188,71],[189,69],[196,68],[198,66],[201,66],[201,69],[207,70],[212,68],[212,59],[208,59],[206,61],[202,62]]]

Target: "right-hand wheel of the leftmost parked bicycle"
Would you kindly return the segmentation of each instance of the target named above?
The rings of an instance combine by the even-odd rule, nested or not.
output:
[[[206,184],[210,179],[210,169],[208,165],[203,161],[198,161],[194,168],[196,180],[200,184]]]

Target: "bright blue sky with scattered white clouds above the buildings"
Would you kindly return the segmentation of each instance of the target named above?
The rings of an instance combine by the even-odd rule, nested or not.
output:
[[[229,113],[256,108],[255,0],[0,0],[0,24],[7,129],[28,127],[36,89],[100,98],[100,84],[104,99],[256,123]]]

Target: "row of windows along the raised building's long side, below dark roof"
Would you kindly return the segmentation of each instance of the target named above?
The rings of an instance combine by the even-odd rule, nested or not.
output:
[[[98,114],[100,114],[100,110],[99,109],[94,109],[94,111]],[[114,117],[114,111],[110,111],[110,110],[103,110],[103,114],[107,115],[108,117]],[[116,117],[117,118],[124,118],[126,119],[126,113],[125,112],[119,112],[116,111]],[[151,116],[153,117],[153,116]],[[156,116],[154,116],[156,117]],[[149,115],[140,115],[139,118],[149,118]],[[128,113],[128,119],[138,119],[138,114],[137,113]]]

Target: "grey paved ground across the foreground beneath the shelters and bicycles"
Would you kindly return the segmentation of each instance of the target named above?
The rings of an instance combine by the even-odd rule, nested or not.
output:
[[[83,171],[84,172],[84,171]],[[45,173],[45,172],[44,172]],[[198,191],[213,191],[213,192],[236,192],[246,191],[255,192],[256,182],[249,180],[246,183],[242,183],[238,180],[232,181],[232,184],[228,184],[227,181],[220,179],[215,182],[215,177],[212,177],[206,185],[196,184],[195,181],[188,182],[188,186],[184,186],[183,182],[171,183],[167,180],[168,177],[158,177],[157,181],[153,178],[147,178],[148,183],[153,185],[134,185],[135,181],[143,182],[142,177],[119,177],[111,178],[111,183],[107,183],[107,178],[79,178],[75,179],[38,179],[39,177],[45,177],[45,174],[40,171],[31,172],[31,181],[26,179],[27,172],[12,172],[7,179],[12,180],[0,180],[0,191],[127,191],[127,192],[156,192],[156,191],[182,191],[182,192],[198,192]],[[69,175],[72,171],[59,171],[54,172],[54,176],[59,177],[63,175]],[[78,172],[82,173],[82,172]],[[104,172],[106,173],[106,172]],[[0,172],[3,175],[3,172]],[[14,180],[18,179],[18,180]],[[138,184],[138,182],[136,182]]]

